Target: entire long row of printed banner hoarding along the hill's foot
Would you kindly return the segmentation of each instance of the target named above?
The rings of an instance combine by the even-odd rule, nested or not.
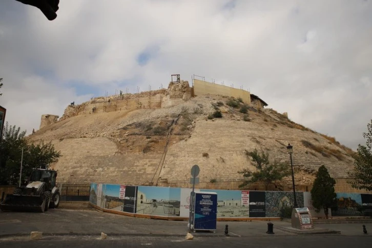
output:
[[[146,215],[189,217],[191,189],[91,183],[89,201],[100,208]],[[217,193],[217,218],[280,217],[281,209],[292,206],[293,192],[195,190]],[[316,213],[310,192],[296,192],[299,207]],[[337,210],[332,216],[372,214],[372,194],[337,193]]]

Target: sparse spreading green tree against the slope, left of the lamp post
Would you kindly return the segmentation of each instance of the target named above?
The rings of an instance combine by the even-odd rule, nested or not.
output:
[[[281,180],[283,177],[291,175],[291,167],[288,163],[279,163],[274,161],[271,163],[268,160],[268,153],[261,154],[255,149],[253,152],[246,152],[247,156],[252,157],[253,166],[256,171],[251,171],[249,169],[244,169],[239,171],[239,174],[243,174],[245,178],[244,182],[239,185],[239,188],[243,188],[246,185],[254,182],[263,182],[265,184],[265,190],[268,189],[268,185],[275,181]]]

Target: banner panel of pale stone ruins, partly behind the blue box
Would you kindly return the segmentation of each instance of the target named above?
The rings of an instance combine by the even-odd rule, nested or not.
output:
[[[200,192],[217,193],[217,218],[247,218],[249,205],[243,205],[240,190],[200,190]],[[246,201],[247,191],[244,191]],[[248,194],[249,195],[249,194]],[[249,199],[249,197],[248,197]]]

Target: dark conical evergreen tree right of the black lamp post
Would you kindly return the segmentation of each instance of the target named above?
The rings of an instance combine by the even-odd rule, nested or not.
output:
[[[324,209],[326,219],[328,219],[328,208],[333,208],[337,202],[335,184],[336,181],[330,177],[327,168],[319,167],[311,194],[315,211],[319,213]]]

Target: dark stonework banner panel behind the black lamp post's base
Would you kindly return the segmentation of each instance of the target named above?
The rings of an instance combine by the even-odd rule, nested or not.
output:
[[[296,201],[299,208],[303,208],[303,193],[296,192]],[[280,216],[281,209],[292,208],[295,202],[293,192],[266,191],[265,192],[265,217]]]

